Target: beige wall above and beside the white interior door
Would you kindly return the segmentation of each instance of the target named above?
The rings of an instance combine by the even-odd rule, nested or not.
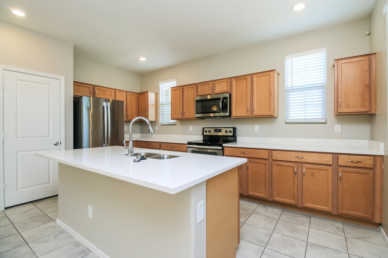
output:
[[[0,22],[0,64],[65,76],[65,147],[73,148],[73,45]]]

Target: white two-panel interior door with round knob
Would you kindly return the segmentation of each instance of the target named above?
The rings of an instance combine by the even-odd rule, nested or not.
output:
[[[58,194],[58,165],[35,155],[60,150],[60,80],[4,71],[5,207]]]

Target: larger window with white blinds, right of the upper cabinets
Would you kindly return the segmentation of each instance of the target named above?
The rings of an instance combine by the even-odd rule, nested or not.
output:
[[[286,123],[326,122],[326,48],[285,60]]]

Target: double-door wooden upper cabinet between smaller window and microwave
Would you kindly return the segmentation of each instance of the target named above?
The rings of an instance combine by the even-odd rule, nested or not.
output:
[[[171,88],[171,119],[195,119],[196,85]]]

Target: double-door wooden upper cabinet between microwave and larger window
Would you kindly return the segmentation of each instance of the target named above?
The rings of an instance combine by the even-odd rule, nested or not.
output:
[[[278,76],[272,70],[232,78],[232,118],[277,117]]]

